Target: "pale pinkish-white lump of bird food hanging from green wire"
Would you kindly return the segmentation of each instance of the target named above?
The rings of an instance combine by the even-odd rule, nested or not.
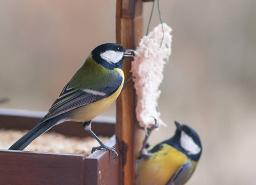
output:
[[[132,62],[131,72],[138,96],[136,116],[139,126],[145,130],[148,125],[154,125],[154,118],[160,125],[165,125],[160,119],[157,101],[161,94],[159,85],[163,81],[163,67],[171,55],[171,31],[166,23],[155,27],[141,39]]]

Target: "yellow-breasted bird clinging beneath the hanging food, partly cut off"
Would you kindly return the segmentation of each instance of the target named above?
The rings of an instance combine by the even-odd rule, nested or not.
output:
[[[175,125],[172,138],[148,147],[147,154],[138,159],[136,185],[182,185],[194,173],[202,153],[199,136],[187,125],[178,121]]]

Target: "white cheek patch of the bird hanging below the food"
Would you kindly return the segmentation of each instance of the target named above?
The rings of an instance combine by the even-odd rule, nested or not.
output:
[[[199,154],[200,147],[193,141],[193,139],[188,136],[184,131],[181,131],[181,147],[188,151],[189,154]]]

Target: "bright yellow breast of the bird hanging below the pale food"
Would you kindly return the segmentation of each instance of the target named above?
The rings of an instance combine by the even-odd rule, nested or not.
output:
[[[163,144],[159,152],[155,152],[151,158],[139,163],[136,185],[165,185],[188,160],[189,158],[182,152],[168,144]]]

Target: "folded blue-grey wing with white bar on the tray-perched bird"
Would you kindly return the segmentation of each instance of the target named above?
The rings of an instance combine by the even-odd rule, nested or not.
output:
[[[117,91],[123,81],[123,77],[115,70],[111,70],[108,73],[107,81],[105,79],[105,76],[102,76],[102,78],[93,79],[95,85],[89,83],[86,85],[86,83],[84,83],[84,86],[76,87],[72,85],[72,80],[74,80],[72,78],[72,80],[66,84],[59,97],[54,104],[52,104],[51,109],[49,109],[49,112],[40,123],[83,105],[111,96]],[[102,87],[102,81],[104,81],[105,87]]]

